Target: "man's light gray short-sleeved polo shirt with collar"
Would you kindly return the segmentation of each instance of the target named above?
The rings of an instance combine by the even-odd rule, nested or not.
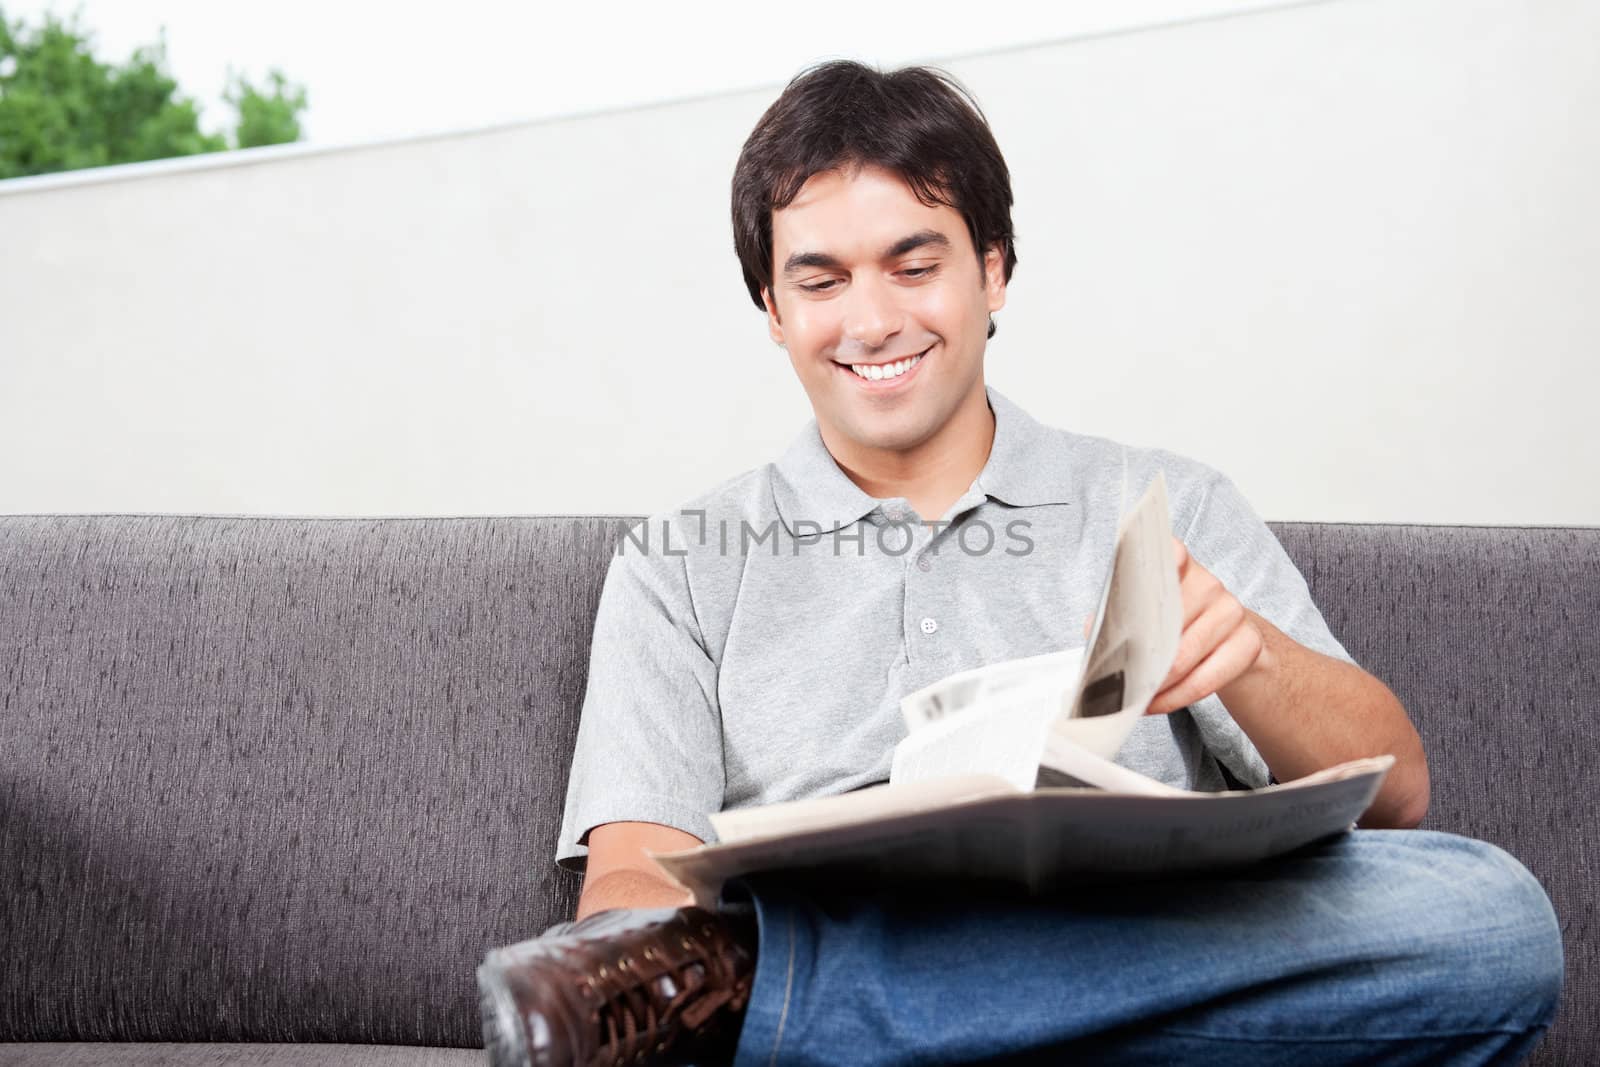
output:
[[[813,419],[778,462],[630,526],[606,571],[555,859],[587,833],[886,781],[899,701],[944,675],[1083,645],[1117,523],[1165,472],[1173,531],[1246,606],[1349,661],[1234,485],[1160,450],[1040,424],[994,387],[989,459],[938,520],[874,499]],[[1267,782],[1214,696],[1150,715],[1117,761],[1184,789]]]

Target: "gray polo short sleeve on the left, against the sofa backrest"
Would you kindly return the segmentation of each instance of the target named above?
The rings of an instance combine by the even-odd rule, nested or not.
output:
[[[707,813],[723,805],[717,664],[696,622],[685,558],[627,537],[619,549],[595,613],[555,849],[555,862],[579,873],[589,830],[603,822],[661,822],[709,841]]]

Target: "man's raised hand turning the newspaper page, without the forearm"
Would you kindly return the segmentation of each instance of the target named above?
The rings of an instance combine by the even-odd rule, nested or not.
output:
[[[1178,592],[1184,605],[1178,656],[1150,701],[1149,715],[1165,715],[1221,693],[1269,656],[1258,617],[1173,537]],[[1224,704],[1227,699],[1224,697]]]

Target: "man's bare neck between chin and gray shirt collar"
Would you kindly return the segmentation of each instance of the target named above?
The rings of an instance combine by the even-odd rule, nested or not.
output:
[[[824,442],[840,470],[862,493],[877,499],[904,496],[925,520],[942,518],[971,488],[994,446],[995,416],[982,379],[950,418],[926,440],[906,448],[862,448]]]

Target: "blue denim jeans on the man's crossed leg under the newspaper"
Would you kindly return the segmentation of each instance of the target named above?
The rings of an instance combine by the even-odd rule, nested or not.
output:
[[[1562,989],[1533,875],[1424,830],[1035,899],[750,875],[725,901],[760,923],[734,1067],[1510,1064]]]

